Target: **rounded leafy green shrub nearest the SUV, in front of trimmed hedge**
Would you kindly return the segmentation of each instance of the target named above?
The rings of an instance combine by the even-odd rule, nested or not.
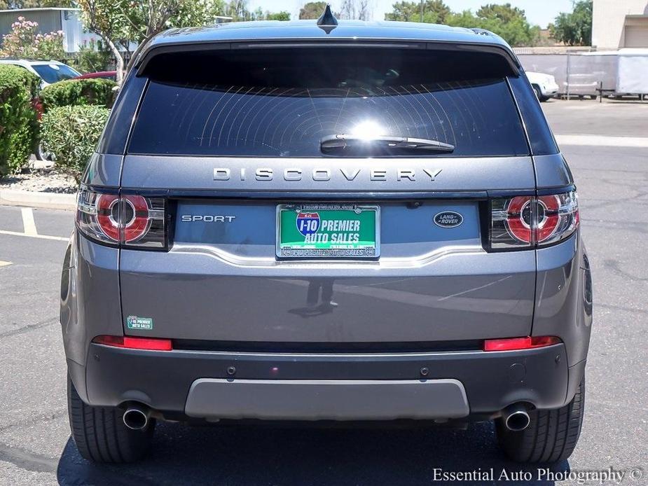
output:
[[[102,106],[57,106],[43,114],[41,140],[56,167],[81,180],[110,110]]]

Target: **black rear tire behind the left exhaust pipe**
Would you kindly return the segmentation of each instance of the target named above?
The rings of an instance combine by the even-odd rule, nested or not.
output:
[[[67,410],[72,438],[84,459],[94,462],[133,462],[149,450],[155,420],[141,431],[125,426],[123,410],[86,405],[67,377]]]

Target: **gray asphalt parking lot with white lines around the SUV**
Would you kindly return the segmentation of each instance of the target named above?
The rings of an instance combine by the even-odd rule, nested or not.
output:
[[[625,474],[621,484],[645,485],[648,103],[543,107],[577,181],[595,286],[584,427],[572,458],[553,471],[612,468]],[[73,224],[67,211],[0,207],[0,485],[422,485],[434,482],[435,468],[493,468],[495,481],[464,484],[499,484],[503,469],[514,479],[506,484],[582,484],[538,480],[537,468],[504,460],[488,424],[462,431],[163,424],[141,464],[89,464],[69,436],[58,324]]]

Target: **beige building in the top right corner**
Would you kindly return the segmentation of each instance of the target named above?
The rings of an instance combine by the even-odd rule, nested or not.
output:
[[[648,0],[594,0],[592,46],[648,48]]]

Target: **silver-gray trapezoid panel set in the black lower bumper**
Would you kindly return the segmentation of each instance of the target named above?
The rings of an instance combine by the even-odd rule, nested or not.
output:
[[[469,408],[457,380],[201,378],[191,385],[185,413],[212,419],[455,419]]]

